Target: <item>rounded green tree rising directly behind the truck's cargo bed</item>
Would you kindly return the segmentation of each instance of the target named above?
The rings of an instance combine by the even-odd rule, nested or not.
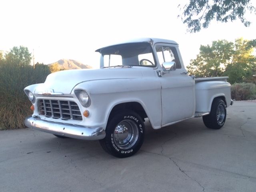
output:
[[[212,45],[201,45],[196,59],[187,67],[190,74],[198,77],[221,76],[234,50],[234,44],[226,40],[213,41]]]

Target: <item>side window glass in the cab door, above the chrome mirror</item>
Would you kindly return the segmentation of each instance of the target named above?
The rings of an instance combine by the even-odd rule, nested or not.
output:
[[[158,56],[158,60],[161,66],[163,62],[175,61],[176,68],[181,69],[180,60],[174,47],[156,46],[156,54]]]

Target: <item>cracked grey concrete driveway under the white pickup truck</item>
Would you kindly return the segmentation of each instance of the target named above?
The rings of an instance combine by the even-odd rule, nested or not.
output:
[[[234,102],[226,124],[202,118],[153,130],[130,158],[98,141],[33,129],[0,131],[0,192],[255,192],[256,102]]]

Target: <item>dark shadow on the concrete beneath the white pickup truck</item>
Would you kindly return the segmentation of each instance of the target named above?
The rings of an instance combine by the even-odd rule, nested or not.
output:
[[[146,134],[142,151],[154,151],[159,149],[164,142],[171,142],[175,146],[182,140],[190,140],[195,136],[200,136],[208,131],[202,122],[202,118],[185,120],[174,125],[154,130],[146,120]],[[64,156],[76,156],[77,158],[97,157],[97,158],[114,158],[102,150],[98,141],[76,140],[72,138],[57,138],[46,133],[42,140],[38,140],[38,145],[47,148],[47,152],[55,151]],[[139,154],[140,151],[137,153]]]

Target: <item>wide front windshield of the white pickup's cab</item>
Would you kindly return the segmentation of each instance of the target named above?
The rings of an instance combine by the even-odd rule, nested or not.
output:
[[[156,66],[152,47],[146,42],[120,44],[102,48],[100,57],[100,67]]]

